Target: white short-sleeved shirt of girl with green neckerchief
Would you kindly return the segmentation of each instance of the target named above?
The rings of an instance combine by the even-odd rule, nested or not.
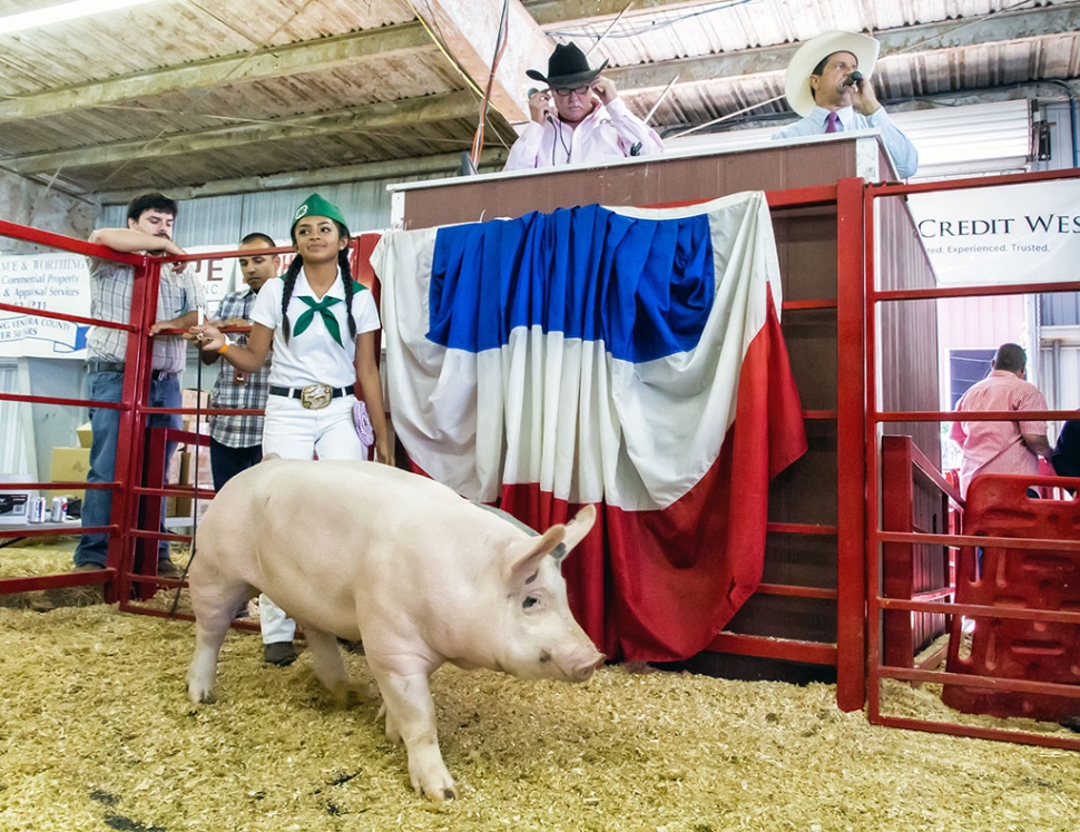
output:
[[[255,298],[252,309],[252,321],[261,323],[274,331],[274,355],[271,361],[269,383],[284,388],[302,388],[307,384],[330,384],[334,388],[345,388],[356,381],[356,346],[348,341],[348,319],[345,314],[345,286],[338,278],[326,293],[327,297],[340,297],[342,303],[331,307],[337,324],[341,326],[343,349],[326,330],[326,324],[320,313],[315,320],[300,335],[296,334],[296,322],[308,310],[307,304],[300,297],[320,298],[312,292],[307,283],[307,275],[301,268],[293,286],[293,295],[288,300],[288,325],[293,331],[288,343],[282,332],[282,293],[285,281],[267,281]],[[364,332],[380,329],[379,312],[375,301],[366,288],[353,293],[353,320],[356,322],[356,336]]]

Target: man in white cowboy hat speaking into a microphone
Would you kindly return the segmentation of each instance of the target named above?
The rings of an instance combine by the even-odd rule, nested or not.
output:
[[[874,38],[855,32],[825,32],[803,43],[784,78],[787,102],[803,118],[773,138],[876,128],[897,175],[914,176],[919,153],[892,123],[870,81],[880,50]]]

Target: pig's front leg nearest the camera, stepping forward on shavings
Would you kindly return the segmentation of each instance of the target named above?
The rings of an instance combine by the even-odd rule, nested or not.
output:
[[[458,790],[439,751],[435,704],[428,686],[431,672],[405,674],[372,666],[372,673],[386,712],[386,736],[391,742],[400,740],[405,744],[412,787],[438,803],[453,800]]]

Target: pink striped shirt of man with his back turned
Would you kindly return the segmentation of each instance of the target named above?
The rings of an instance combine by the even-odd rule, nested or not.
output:
[[[993,370],[973,384],[960,401],[956,411],[1048,410],[1039,389],[1015,373]],[[1042,420],[1013,422],[953,422],[949,433],[964,452],[960,463],[960,495],[968,496],[968,486],[980,473],[1039,473],[1039,457],[1023,441],[1023,433],[1047,435]]]

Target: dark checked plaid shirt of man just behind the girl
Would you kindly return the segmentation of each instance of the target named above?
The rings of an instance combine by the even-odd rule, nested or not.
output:
[[[217,309],[217,320],[227,321],[230,317],[252,320],[252,306],[255,305],[256,294],[248,286],[234,292]],[[237,333],[236,343],[247,346],[247,333]],[[210,393],[212,408],[245,408],[263,411],[266,409],[266,394],[269,379],[271,353],[266,353],[266,363],[257,373],[244,373],[228,362],[222,362],[214,391]],[[246,381],[237,383],[237,378]],[[263,417],[261,415],[217,415],[209,417],[210,435],[229,448],[251,448],[263,442]]]

